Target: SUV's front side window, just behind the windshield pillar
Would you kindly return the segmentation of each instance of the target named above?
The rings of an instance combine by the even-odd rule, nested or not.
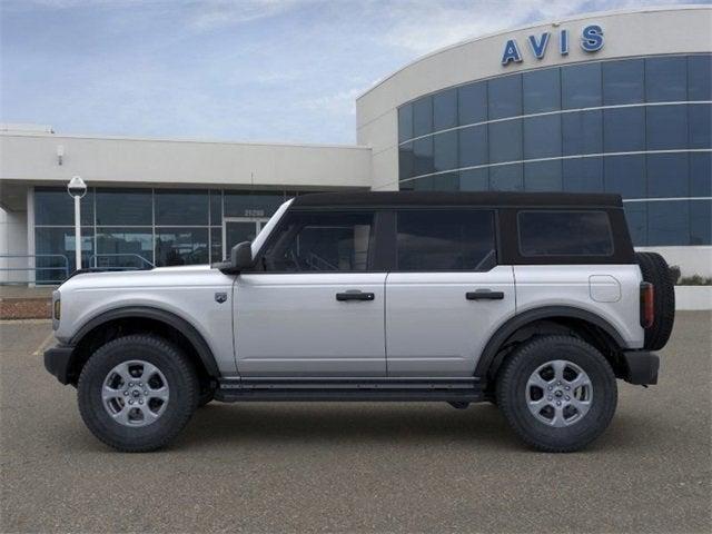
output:
[[[370,211],[288,214],[270,238],[261,267],[273,273],[365,271],[373,219]]]

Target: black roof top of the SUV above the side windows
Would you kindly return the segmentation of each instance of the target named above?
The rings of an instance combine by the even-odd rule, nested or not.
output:
[[[531,206],[621,208],[620,195],[581,192],[447,192],[356,191],[314,192],[294,199],[293,207],[349,206]]]

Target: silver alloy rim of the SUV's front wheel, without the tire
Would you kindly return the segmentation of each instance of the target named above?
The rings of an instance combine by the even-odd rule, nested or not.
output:
[[[101,386],[105,409],[123,426],[155,423],[166,412],[168,398],[168,380],[158,367],[142,359],[117,365]]]

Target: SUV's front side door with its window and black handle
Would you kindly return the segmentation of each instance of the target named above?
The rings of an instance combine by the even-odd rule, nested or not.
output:
[[[385,376],[374,214],[290,211],[235,283],[243,376]]]

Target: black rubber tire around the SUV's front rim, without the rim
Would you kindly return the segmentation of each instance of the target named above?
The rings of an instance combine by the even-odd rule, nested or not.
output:
[[[155,365],[168,383],[170,396],[164,413],[146,426],[117,423],[101,398],[108,374],[129,360]],[[130,335],[107,343],[89,358],[77,389],[79,412],[91,433],[118,451],[139,453],[165,446],[186,426],[198,404],[199,385],[194,366],[178,347],[157,336]]]

